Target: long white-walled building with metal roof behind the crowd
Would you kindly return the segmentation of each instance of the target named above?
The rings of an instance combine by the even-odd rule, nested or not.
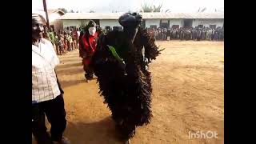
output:
[[[120,26],[118,18],[124,13],[66,13],[59,17],[63,27],[85,26],[90,19],[99,26]],[[140,13],[143,27],[223,26],[224,13]]]

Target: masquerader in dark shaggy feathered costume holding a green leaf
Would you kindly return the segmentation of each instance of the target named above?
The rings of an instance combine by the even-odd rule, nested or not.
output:
[[[150,72],[146,69],[161,50],[147,31],[139,27],[140,14],[123,14],[118,22],[123,30],[113,30],[99,38],[92,64],[99,93],[110,108],[122,138],[129,143],[136,126],[150,123],[152,88]]]

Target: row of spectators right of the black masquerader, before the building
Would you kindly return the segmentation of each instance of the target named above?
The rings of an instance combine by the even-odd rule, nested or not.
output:
[[[150,36],[156,40],[194,40],[223,41],[224,27],[180,27],[180,28],[147,28]]]

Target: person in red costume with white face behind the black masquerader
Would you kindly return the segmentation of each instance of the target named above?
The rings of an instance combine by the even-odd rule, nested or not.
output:
[[[94,76],[93,67],[90,66],[91,58],[96,50],[98,32],[96,32],[96,23],[90,20],[85,27],[84,34],[79,38],[79,56],[82,58],[83,70],[85,70],[86,81]]]

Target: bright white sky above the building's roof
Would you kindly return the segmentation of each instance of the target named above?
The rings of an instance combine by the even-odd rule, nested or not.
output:
[[[162,4],[162,10],[170,9],[171,12],[196,12],[199,7],[206,7],[209,12],[215,8],[224,11],[224,0],[46,0],[48,10],[63,7],[80,12],[139,11],[145,2]],[[32,10],[43,10],[42,0],[32,0]]]

